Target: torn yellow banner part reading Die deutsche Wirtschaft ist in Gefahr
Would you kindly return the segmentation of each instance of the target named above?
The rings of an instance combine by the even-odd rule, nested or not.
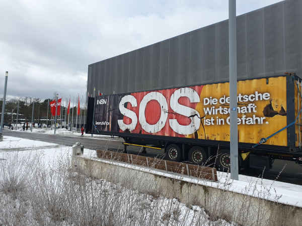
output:
[[[239,81],[237,88],[239,142],[256,144],[287,125],[285,76]],[[229,83],[204,85],[196,110],[204,117],[199,139],[230,141]],[[287,146],[287,130],[265,144]]]

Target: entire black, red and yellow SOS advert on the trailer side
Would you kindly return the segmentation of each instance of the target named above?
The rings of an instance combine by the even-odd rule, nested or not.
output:
[[[236,110],[243,143],[287,125],[286,76],[237,84],[237,109],[230,109],[228,82],[97,96],[94,124],[98,131],[230,141],[230,110]],[[266,144],[287,146],[287,130]]]

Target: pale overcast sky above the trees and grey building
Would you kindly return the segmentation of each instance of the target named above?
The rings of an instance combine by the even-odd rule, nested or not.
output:
[[[237,15],[281,2],[237,0]],[[228,19],[228,0],[2,0],[0,96],[85,96],[88,65]]]

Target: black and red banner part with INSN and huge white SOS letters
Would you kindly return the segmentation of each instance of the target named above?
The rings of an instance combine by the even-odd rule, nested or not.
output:
[[[96,97],[100,131],[186,137],[200,127],[196,106],[203,86]]]

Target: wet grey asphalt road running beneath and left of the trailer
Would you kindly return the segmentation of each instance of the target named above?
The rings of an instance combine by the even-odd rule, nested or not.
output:
[[[110,138],[108,137],[97,137],[95,136],[95,139],[86,138],[86,137],[69,137],[69,136],[62,136],[62,135],[49,135],[49,134],[39,134],[39,133],[31,133],[28,132],[18,132],[18,131],[9,131],[9,130],[3,130],[3,136],[12,136],[12,137],[20,137],[30,140],[36,140],[36,141],[44,141],[44,142],[50,142],[60,145],[66,145],[66,146],[72,146],[76,142],[80,142],[82,145],[84,145],[84,150],[87,149],[103,149],[108,147],[108,150],[116,151],[116,150],[123,150],[123,144],[124,141],[121,138]],[[129,154],[138,154],[141,152],[140,147],[135,146],[128,146],[127,151]],[[164,157],[164,151],[162,150],[154,150],[154,149],[146,149],[147,154],[140,154],[142,156],[147,157]],[[292,183],[292,184],[299,184],[302,185],[302,166],[295,164],[291,161],[281,161],[281,160],[275,160],[273,163],[273,167],[269,171],[265,171],[263,178],[274,180],[279,172],[282,170],[284,165],[286,164],[283,172],[281,173],[278,181]],[[240,174],[248,175],[248,176],[254,176],[258,177],[259,175],[262,175],[261,170],[256,169],[245,169],[241,170]]]

